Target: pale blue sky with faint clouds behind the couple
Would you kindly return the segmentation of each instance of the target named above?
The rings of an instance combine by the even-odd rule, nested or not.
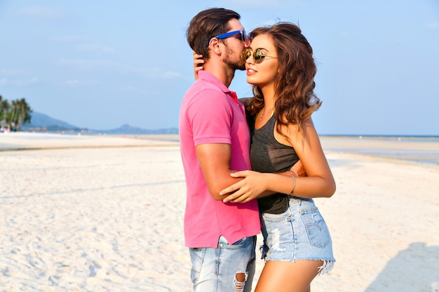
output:
[[[187,25],[212,7],[248,32],[301,27],[319,134],[439,136],[438,0],[0,0],[0,95],[76,127],[178,127],[194,82]],[[252,96],[245,71],[229,88]]]

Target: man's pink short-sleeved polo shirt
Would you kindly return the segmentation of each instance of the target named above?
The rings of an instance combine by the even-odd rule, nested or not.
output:
[[[180,109],[180,151],[187,186],[184,241],[188,247],[216,248],[220,235],[229,244],[260,231],[257,200],[224,203],[213,200],[198,164],[195,146],[231,145],[230,168],[251,169],[250,133],[243,104],[215,76],[199,71]]]

